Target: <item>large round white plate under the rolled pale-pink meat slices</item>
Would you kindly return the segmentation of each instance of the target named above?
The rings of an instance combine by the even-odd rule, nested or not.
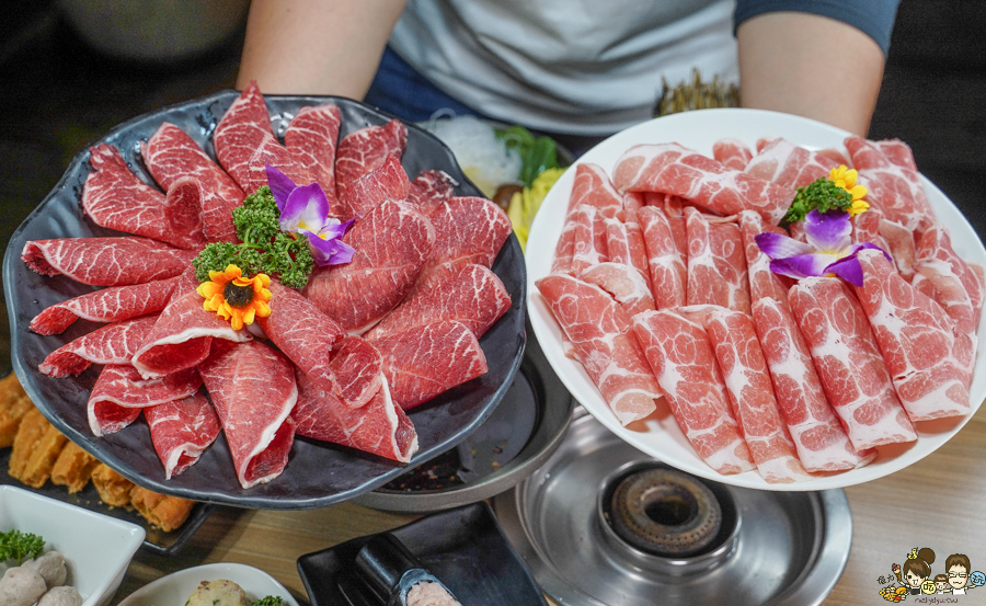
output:
[[[582,365],[565,356],[561,328],[535,286],[535,282],[551,271],[554,247],[561,236],[577,164],[595,163],[611,173],[617,159],[638,144],[678,142],[711,158],[712,145],[725,137],[745,141],[752,149],[756,149],[759,138],[783,137],[809,149],[836,148],[847,153],[842,141],[848,135],[849,133],[834,126],[789,114],[738,108],[701,110],[655,118],[618,133],[587,151],[565,171],[548,192],[530,228],[525,254],[528,312],[548,362],[572,396],[593,416],[630,445],[683,471],[726,484],[766,490],[826,490],[875,480],[927,457],[965,425],[986,398],[986,356],[983,355],[976,361],[970,389],[972,411],[968,415],[917,423],[916,442],[880,447],[876,458],[865,467],[819,474],[813,480],[793,484],[768,484],[756,471],[725,476],[712,470],[696,455],[674,416],[666,413],[666,407],[664,411],[658,409],[657,413],[643,422],[634,423],[632,430],[620,425]],[[948,227],[952,236],[955,252],[966,261],[986,266],[986,249],[959,208],[924,175],[921,181],[938,219]],[[978,333],[981,352],[986,348],[983,324],[984,322],[979,323]]]

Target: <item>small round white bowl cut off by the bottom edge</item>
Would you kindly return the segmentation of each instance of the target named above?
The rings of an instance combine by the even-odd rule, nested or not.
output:
[[[124,598],[118,606],[175,606],[184,604],[203,581],[225,579],[243,587],[246,597],[255,602],[268,595],[284,598],[285,606],[298,606],[291,593],[266,572],[223,562],[186,568],[148,583]]]

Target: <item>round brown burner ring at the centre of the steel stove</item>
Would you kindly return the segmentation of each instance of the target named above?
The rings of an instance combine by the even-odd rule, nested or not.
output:
[[[614,531],[662,557],[696,554],[715,540],[722,510],[708,487],[673,469],[652,468],[620,480],[612,494]]]

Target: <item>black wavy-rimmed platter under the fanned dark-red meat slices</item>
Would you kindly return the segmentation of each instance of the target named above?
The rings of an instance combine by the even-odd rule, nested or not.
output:
[[[237,91],[223,91],[134,118],[92,146],[115,146],[131,171],[147,183],[153,183],[140,157],[141,141],[147,141],[162,123],[169,122],[187,133],[206,153],[215,158],[213,132],[238,95]],[[340,139],[354,130],[371,125],[382,126],[391,121],[391,116],[346,99],[267,95],[264,100],[273,129],[278,136],[283,136],[300,108],[330,102],[341,111]],[[401,164],[409,174],[442,170],[457,182],[456,196],[481,196],[461,173],[452,153],[438,139],[413,125],[408,125],[406,130],[406,148]],[[11,322],[11,357],[27,395],[45,416],[72,442],[131,481],[165,494],[233,506],[324,506],[372,490],[452,448],[479,427],[511,386],[524,353],[527,285],[523,254],[513,235],[492,265],[512,302],[479,341],[489,370],[409,410],[408,416],[417,432],[419,449],[406,466],[299,436],[279,477],[244,489],[238,481],[228,442],[219,435],[195,465],[165,480],[164,469],[142,418],[116,433],[99,438],[93,435],[87,416],[87,401],[99,376],[96,366],[67,378],[51,378],[38,371],[38,364],[50,352],[91,332],[98,324],[79,320],[65,332],[47,336],[28,330],[31,320],[41,310],[90,293],[93,288],[65,276],[43,276],[31,271],[21,260],[25,243],[53,238],[122,236],[96,226],[83,215],[79,201],[92,170],[87,149],[72,160],[58,185],[11,238],[3,262],[4,295]]]

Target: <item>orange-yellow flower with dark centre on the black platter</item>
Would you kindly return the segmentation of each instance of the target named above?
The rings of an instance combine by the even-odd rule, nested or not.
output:
[[[243,277],[236,265],[227,265],[226,271],[209,272],[209,282],[198,285],[197,293],[205,297],[202,308],[215,311],[227,320],[233,330],[243,324],[252,324],[255,318],[271,315],[271,278],[267,274]]]

